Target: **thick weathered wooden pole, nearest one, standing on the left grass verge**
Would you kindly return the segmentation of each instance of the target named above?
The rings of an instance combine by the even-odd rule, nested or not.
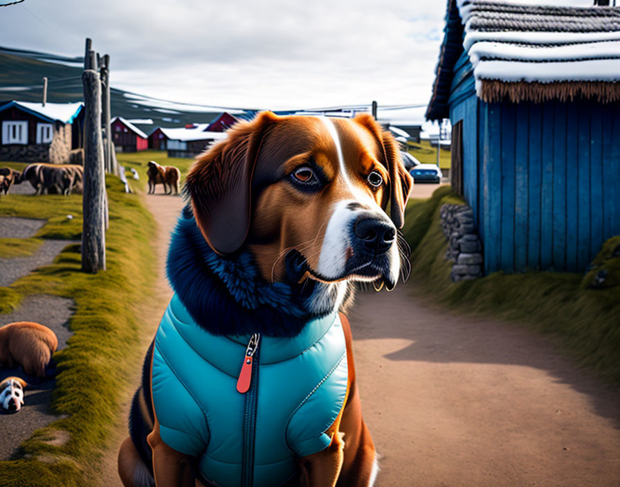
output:
[[[101,80],[97,59],[86,39],[84,57],[84,194],[82,210],[82,270],[105,270],[105,174],[101,138]]]

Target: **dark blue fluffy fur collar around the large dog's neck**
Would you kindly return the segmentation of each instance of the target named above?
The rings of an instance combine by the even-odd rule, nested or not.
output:
[[[172,233],[166,270],[194,321],[214,335],[292,337],[309,320],[331,311],[311,313],[309,299],[302,297],[298,285],[266,282],[248,250],[217,255],[188,207]]]

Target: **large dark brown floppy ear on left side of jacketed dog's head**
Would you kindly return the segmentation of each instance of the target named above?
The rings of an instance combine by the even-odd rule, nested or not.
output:
[[[250,228],[252,176],[263,136],[277,116],[260,113],[239,122],[228,138],[199,156],[185,189],[194,218],[209,246],[219,254],[235,252]]]

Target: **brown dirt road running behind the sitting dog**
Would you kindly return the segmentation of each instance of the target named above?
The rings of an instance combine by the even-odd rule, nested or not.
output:
[[[160,235],[148,338],[172,294],[165,251],[182,203],[156,194],[147,206]],[[382,457],[377,486],[620,486],[620,392],[545,338],[433,309],[402,284],[361,295],[349,318],[363,411]],[[123,421],[128,405],[129,397]],[[115,462],[106,487],[120,485]]]

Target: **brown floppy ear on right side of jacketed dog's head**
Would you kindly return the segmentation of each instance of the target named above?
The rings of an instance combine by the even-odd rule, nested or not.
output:
[[[398,143],[389,131],[383,131],[381,125],[367,113],[356,116],[355,120],[369,129],[379,143],[383,164],[390,174],[390,218],[396,228],[403,228],[405,205],[413,188],[413,178],[405,169]]]

